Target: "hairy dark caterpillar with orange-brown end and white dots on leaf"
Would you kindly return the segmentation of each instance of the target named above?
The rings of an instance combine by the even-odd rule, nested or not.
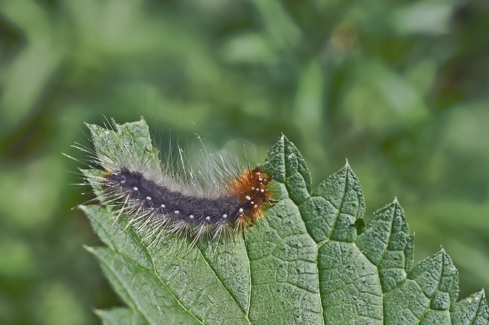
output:
[[[176,161],[170,151],[161,163],[143,118],[124,125],[113,122],[113,128],[87,126],[95,154],[75,148],[92,153],[91,162],[100,167],[89,165],[92,169],[82,173],[96,199],[136,230],[189,238],[190,247],[234,240],[234,234],[246,238],[248,228],[277,202],[274,175],[260,166],[240,168],[205,150],[201,159],[190,162],[180,148]],[[128,131],[129,126],[141,133]]]

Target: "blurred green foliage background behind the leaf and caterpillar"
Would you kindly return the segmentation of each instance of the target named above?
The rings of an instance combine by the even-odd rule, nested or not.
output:
[[[348,158],[367,218],[397,196],[416,260],[488,289],[488,77],[487,0],[1,0],[0,323],[119,304],[61,155],[103,115],[261,159],[283,132],[314,185]]]

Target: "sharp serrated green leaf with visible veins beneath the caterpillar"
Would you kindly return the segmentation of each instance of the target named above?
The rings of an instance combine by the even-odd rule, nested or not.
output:
[[[159,168],[144,120],[89,128],[105,167],[137,154]],[[413,236],[397,199],[363,227],[348,163],[312,191],[303,157],[282,136],[263,167],[281,199],[233,247],[188,249],[184,239],[136,233],[110,206],[81,206],[107,245],[87,250],[127,306],[97,310],[103,324],[488,324],[484,291],[456,303],[458,272],[444,250],[410,269]]]

